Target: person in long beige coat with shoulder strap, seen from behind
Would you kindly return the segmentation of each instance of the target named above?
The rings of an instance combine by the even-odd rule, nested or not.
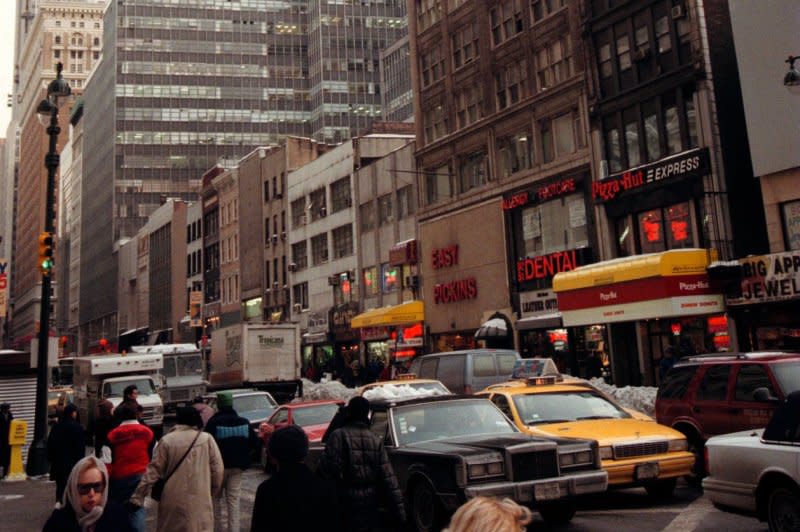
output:
[[[212,497],[222,485],[225,466],[214,438],[198,428],[200,414],[192,407],[179,408],[175,428],[161,438],[153,459],[131,496],[130,504],[142,506],[159,478],[175,469],[194,441],[186,459],[164,486],[158,504],[158,532],[207,532],[214,530]],[[197,440],[195,441],[195,437]]]

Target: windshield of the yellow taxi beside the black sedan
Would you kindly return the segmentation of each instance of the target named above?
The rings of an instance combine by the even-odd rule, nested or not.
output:
[[[526,425],[631,417],[614,403],[589,391],[515,395],[514,405]]]

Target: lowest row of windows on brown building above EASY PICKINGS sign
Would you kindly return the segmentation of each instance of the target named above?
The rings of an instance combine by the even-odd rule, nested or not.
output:
[[[537,135],[532,128],[506,136],[498,136],[494,150],[497,154],[497,175],[508,177],[516,172],[533,168],[534,164],[548,164],[575,153],[586,146],[583,126],[577,110],[537,122]],[[490,180],[489,159],[481,148],[462,155],[450,165],[427,170],[423,179],[425,204],[432,205],[481,187]]]

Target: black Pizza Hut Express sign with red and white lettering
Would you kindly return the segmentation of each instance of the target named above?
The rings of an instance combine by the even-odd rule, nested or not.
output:
[[[654,163],[638,166],[592,183],[592,197],[598,203],[660,181],[702,176],[710,171],[708,148],[685,151]]]

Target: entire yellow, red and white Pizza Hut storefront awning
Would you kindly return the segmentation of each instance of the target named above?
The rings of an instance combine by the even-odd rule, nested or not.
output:
[[[722,312],[708,280],[714,250],[682,249],[582,266],[553,278],[565,326]]]

